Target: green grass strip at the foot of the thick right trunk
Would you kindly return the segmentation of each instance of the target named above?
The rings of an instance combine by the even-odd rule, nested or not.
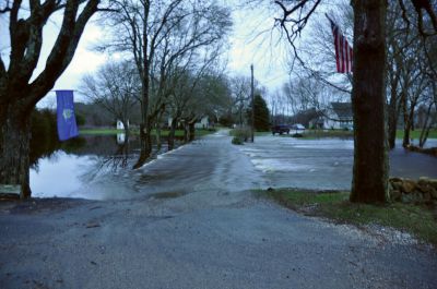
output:
[[[319,216],[341,224],[377,224],[409,232],[437,245],[437,215],[433,209],[412,204],[353,204],[349,192],[315,192],[280,189],[264,192],[280,204],[309,216]]]

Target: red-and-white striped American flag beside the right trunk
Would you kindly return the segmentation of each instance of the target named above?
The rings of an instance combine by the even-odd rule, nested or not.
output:
[[[352,72],[353,49],[349,45],[346,37],[341,33],[340,27],[328,16],[334,36],[336,72]]]

